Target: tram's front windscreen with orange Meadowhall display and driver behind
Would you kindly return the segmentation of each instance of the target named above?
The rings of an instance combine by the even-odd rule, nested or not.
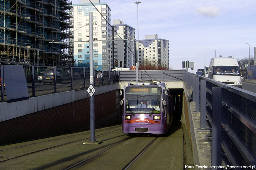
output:
[[[125,89],[126,113],[160,113],[161,87],[127,87]]]

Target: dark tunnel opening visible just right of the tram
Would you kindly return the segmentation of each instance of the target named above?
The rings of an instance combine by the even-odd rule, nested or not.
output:
[[[181,120],[182,114],[182,99],[183,99],[183,89],[182,88],[171,88],[169,89],[173,98],[173,108],[174,115],[176,115],[176,120]]]

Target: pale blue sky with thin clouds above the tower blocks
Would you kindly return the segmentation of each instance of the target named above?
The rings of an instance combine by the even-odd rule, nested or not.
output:
[[[197,69],[222,55],[244,58],[256,47],[255,0],[140,0],[139,39],[157,34],[169,40],[169,61],[182,69],[182,61],[194,62]],[[131,0],[100,0],[111,9],[114,19],[136,29],[137,4]],[[72,0],[73,4],[81,3]],[[203,61],[204,60],[204,61]],[[189,72],[191,70],[189,69]]]

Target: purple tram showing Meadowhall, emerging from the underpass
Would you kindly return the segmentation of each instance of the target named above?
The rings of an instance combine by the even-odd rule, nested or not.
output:
[[[150,83],[148,83],[150,84]],[[123,133],[166,134],[173,122],[173,100],[165,83],[124,86]]]

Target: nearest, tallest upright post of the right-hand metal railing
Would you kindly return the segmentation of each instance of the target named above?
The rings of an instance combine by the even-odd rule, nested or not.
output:
[[[212,87],[212,165],[221,166],[221,87]],[[213,168],[215,170],[215,168]]]

